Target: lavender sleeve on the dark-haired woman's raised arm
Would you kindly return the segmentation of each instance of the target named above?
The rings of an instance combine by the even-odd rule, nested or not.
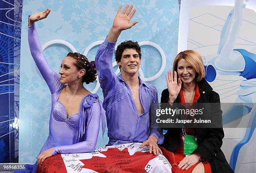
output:
[[[49,64],[44,58],[44,54],[36,32],[35,23],[28,27],[28,44],[36,66],[38,67],[41,75],[49,86],[51,94],[57,92],[59,89],[61,89],[62,84],[60,84],[59,75],[50,68]]]

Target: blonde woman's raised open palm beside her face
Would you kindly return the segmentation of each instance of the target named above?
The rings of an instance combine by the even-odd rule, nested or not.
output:
[[[182,82],[180,79],[177,81],[177,72],[174,71],[174,77],[172,76],[172,71],[169,70],[168,76],[165,75],[166,82],[167,82],[167,88],[169,91],[169,102],[174,102],[174,100],[177,98],[179,91],[182,86]]]

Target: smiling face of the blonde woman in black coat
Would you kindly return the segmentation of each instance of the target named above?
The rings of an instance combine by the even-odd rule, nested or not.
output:
[[[183,84],[195,82],[196,71],[185,59],[179,60],[177,72]]]

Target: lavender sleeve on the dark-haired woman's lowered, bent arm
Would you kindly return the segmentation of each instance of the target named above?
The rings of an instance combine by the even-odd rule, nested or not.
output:
[[[92,105],[90,114],[87,114],[87,128],[84,141],[72,145],[61,145],[54,148],[52,154],[57,153],[87,153],[95,150],[100,129],[102,107],[100,101]]]

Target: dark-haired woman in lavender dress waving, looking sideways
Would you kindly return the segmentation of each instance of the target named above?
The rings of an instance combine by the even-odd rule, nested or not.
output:
[[[38,40],[35,22],[46,18],[51,9],[28,18],[28,42],[31,55],[51,91],[49,136],[44,143],[37,165],[57,153],[86,153],[95,150],[102,118],[105,131],[105,111],[97,94],[91,94],[83,83],[96,79],[95,62],[79,53],[68,53],[56,74],[46,62]]]

